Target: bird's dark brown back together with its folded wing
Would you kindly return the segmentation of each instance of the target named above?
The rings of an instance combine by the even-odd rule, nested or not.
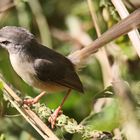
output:
[[[32,46],[32,47],[30,47]],[[83,92],[83,85],[75,72],[72,62],[63,55],[41,44],[30,44],[37,77],[43,82],[54,82]]]

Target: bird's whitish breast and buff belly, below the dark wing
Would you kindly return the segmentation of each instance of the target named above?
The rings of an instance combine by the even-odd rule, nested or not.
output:
[[[10,61],[16,73],[29,85],[48,91],[62,91],[65,89],[63,86],[46,83],[36,79],[33,63],[29,62],[25,56],[21,56],[20,53],[10,54]]]

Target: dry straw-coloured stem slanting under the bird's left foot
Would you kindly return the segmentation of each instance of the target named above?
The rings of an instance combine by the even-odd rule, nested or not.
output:
[[[4,94],[10,103],[19,111],[19,113],[26,119],[28,123],[47,140],[58,140],[53,132],[44,124],[44,122],[26,105],[20,107],[22,99],[16,95],[16,93],[6,84],[6,82],[0,76],[0,82],[3,84]]]

